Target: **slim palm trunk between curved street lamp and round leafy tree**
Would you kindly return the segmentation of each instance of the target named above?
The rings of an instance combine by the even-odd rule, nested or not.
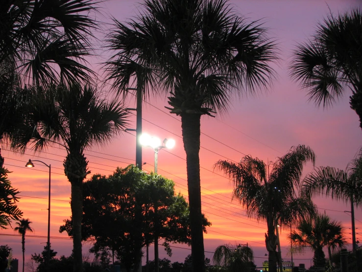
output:
[[[72,222],[73,222],[73,272],[83,271],[82,264],[82,215],[83,191],[82,183],[72,183]]]

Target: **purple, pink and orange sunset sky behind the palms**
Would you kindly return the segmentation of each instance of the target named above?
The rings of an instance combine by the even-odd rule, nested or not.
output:
[[[138,1],[137,1],[138,2]],[[102,15],[97,19],[105,23],[115,17],[119,21],[135,16],[140,5],[133,0],[109,0],[100,3]],[[329,109],[316,108],[308,102],[306,91],[290,80],[288,65],[292,50],[298,42],[306,41],[314,33],[317,22],[327,15],[329,9],[337,14],[352,7],[361,7],[360,0],[232,0],[230,4],[235,10],[245,16],[248,21],[261,19],[269,29],[268,35],[276,39],[280,50],[280,60],[273,68],[277,78],[267,92],[256,96],[244,96],[233,99],[227,114],[216,118],[203,116],[201,118],[201,194],[202,211],[212,222],[208,233],[204,234],[205,256],[212,258],[217,245],[231,243],[250,245],[255,253],[255,263],[261,266],[267,259],[265,253],[266,225],[245,216],[245,210],[236,202],[231,201],[232,183],[221,172],[214,172],[213,165],[219,159],[239,161],[243,156],[274,161],[283,156],[291,146],[309,145],[315,152],[316,166],[333,166],[345,169],[361,148],[361,128],[357,114],[349,108],[349,90],[336,105]],[[102,26],[105,30],[107,25]],[[108,53],[101,51],[101,33],[97,34],[101,41],[97,42],[99,55],[90,59],[97,73],[102,74],[99,63],[107,58]],[[107,91],[105,86],[104,91]],[[175,190],[187,197],[186,155],[181,138],[180,118],[169,114],[165,109],[166,97],[155,97],[144,104],[143,131],[161,139],[173,138],[176,146],[172,150],[162,150],[158,157],[158,173],[172,179]],[[134,101],[127,101],[127,106],[134,108]],[[135,117],[132,117],[131,128],[135,128]],[[111,174],[117,166],[125,167],[135,162],[136,137],[134,133],[124,133],[106,146],[86,151],[89,169],[92,174]],[[42,153],[34,154],[28,150],[25,155],[8,151],[2,146],[1,155],[5,158],[4,167],[12,173],[9,179],[13,187],[21,191],[18,204],[24,212],[24,218],[32,221],[34,233],[25,238],[25,261],[30,254],[40,253],[47,242],[48,222],[48,167],[35,164],[35,168],[25,168],[29,160],[40,160],[51,164],[51,248],[58,256],[69,256],[72,251],[72,241],[67,234],[59,233],[63,219],[71,215],[70,194],[71,185],[64,175],[63,160],[66,152],[59,146],[48,148]],[[154,153],[150,148],[143,148],[144,170],[153,170]],[[313,169],[311,164],[305,168],[305,173]],[[88,176],[88,178],[91,175]],[[346,238],[351,243],[350,204],[332,200],[330,197],[315,198],[319,212],[326,213],[331,218],[342,221],[346,228]],[[357,240],[362,243],[362,209],[356,209]],[[14,223],[13,223],[14,226]],[[290,258],[290,242],[287,240],[289,230],[281,230],[282,257]],[[9,228],[1,230],[0,245],[13,248],[16,258],[22,259],[21,237],[13,236],[15,232]],[[31,237],[43,236],[40,238]],[[360,244],[361,245],[361,244]],[[84,244],[83,254],[88,253],[91,245]],[[188,248],[187,245],[175,245]],[[351,245],[348,245],[351,248]],[[183,262],[190,249],[172,248],[172,262]],[[160,258],[167,257],[160,248]],[[310,266],[312,253],[308,250],[303,254],[293,255],[295,265],[305,263]],[[153,250],[150,248],[150,260]],[[21,263],[21,261],[20,261]],[[145,263],[145,262],[144,262]],[[21,267],[21,264],[20,264]]]

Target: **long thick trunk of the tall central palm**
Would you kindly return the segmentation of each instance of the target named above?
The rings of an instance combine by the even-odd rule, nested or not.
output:
[[[184,113],[181,115],[190,205],[191,256],[193,260],[193,271],[195,272],[205,271],[199,159],[200,118],[201,116],[199,114]]]

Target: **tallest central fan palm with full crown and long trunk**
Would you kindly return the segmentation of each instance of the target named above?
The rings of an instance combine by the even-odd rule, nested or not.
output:
[[[145,0],[144,12],[115,21],[111,48],[157,77],[151,90],[169,91],[171,113],[181,116],[187,160],[193,270],[204,271],[200,192],[200,118],[225,112],[233,95],[254,93],[272,78],[275,46],[259,22],[241,19],[226,0]],[[108,66],[109,67],[109,66]]]

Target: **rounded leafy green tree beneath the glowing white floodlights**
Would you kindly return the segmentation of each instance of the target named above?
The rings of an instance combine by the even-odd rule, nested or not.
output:
[[[128,271],[133,265],[137,270],[140,250],[154,239],[155,232],[166,242],[190,242],[187,202],[174,194],[174,183],[160,175],[146,174],[130,165],[117,168],[107,178],[94,175],[83,189],[83,239],[94,237],[92,250],[96,253],[116,252]],[[205,229],[210,222],[203,220]],[[72,235],[71,220],[65,222],[60,231]]]

